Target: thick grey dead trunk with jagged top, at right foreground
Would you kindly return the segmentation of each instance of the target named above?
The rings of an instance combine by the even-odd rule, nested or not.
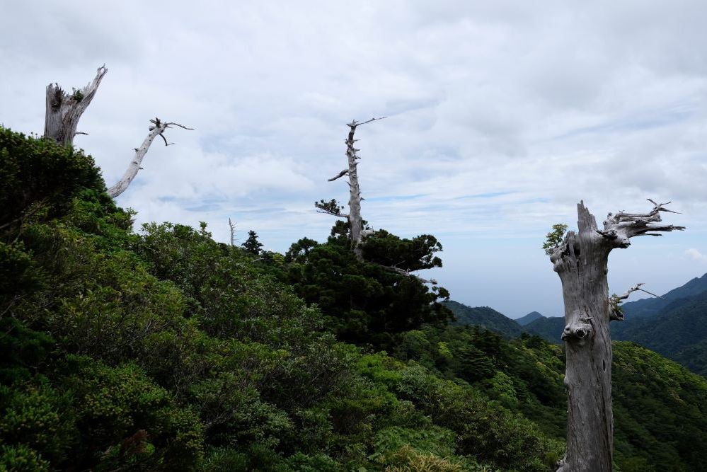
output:
[[[633,236],[662,236],[655,231],[682,230],[660,224],[667,203],[645,214],[609,213],[604,229],[584,206],[577,205],[579,231],[568,231],[550,256],[562,281],[568,395],[567,449],[558,471],[611,471],[614,415],[611,410],[611,337],[609,321],[619,319],[608,295],[607,261],[614,248],[627,248]],[[668,202],[669,203],[669,202]],[[672,212],[676,213],[676,212]],[[633,292],[632,287],[625,294]],[[616,297],[617,299],[625,298]]]

